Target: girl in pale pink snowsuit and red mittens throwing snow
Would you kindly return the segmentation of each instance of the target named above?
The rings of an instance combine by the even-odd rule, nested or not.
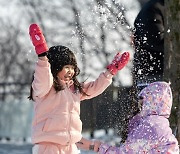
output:
[[[34,100],[33,153],[77,154],[75,143],[82,138],[80,101],[101,94],[127,64],[129,53],[118,53],[95,81],[79,83],[76,77],[80,70],[69,48],[59,45],[48,50],[36,24],[30,25],[29,34],[38,55],[29,97]]]

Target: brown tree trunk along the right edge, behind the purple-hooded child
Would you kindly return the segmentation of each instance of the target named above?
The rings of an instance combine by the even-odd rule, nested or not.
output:
[[[171,82],[173,91],[173,108],[171,126],[177,132],[180,143],[180,3],[179,0],[165,0],[165,68],[164,78]]]

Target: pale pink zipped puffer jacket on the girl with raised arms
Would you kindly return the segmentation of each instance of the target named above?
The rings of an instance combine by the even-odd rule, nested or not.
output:
[[[104,73],[93,82],[84,83],[84,91],[89,96],[73,93],[72,86],[56,92],[49,62],[38,60],[33,87],[34,119],[32,142],[53,142],[69,145],[81,138],[80,101],[101,94],[112,82],[112,75]]]

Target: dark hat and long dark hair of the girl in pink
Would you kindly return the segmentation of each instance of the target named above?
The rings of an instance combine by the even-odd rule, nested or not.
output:
[[[83,91],[82,85],[76,78],[79,75],[80,70],[77,66],[77,61],[74,53],[68,47],[61,45],[52,46],[48,51],[47,58],[49,59],[49,63],[51,65],[51,73],[54,78],[53,86],[56,92],[63,90],[63,86],[58,82],[58,72],[60,72],[65,65],[73,65],[75,73],[72,77],[72,80],[74,82],[75,91],[79,91],[81,94],[87,95]],[[30,100],[33,100],[32,92],[33,91],[31,87],[30,96],[28,97]]]

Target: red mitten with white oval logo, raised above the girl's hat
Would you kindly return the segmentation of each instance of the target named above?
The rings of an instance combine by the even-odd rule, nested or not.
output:
[[[49,50],[42,30],[37,24],[30,25],[29,35],[38,55]]]

